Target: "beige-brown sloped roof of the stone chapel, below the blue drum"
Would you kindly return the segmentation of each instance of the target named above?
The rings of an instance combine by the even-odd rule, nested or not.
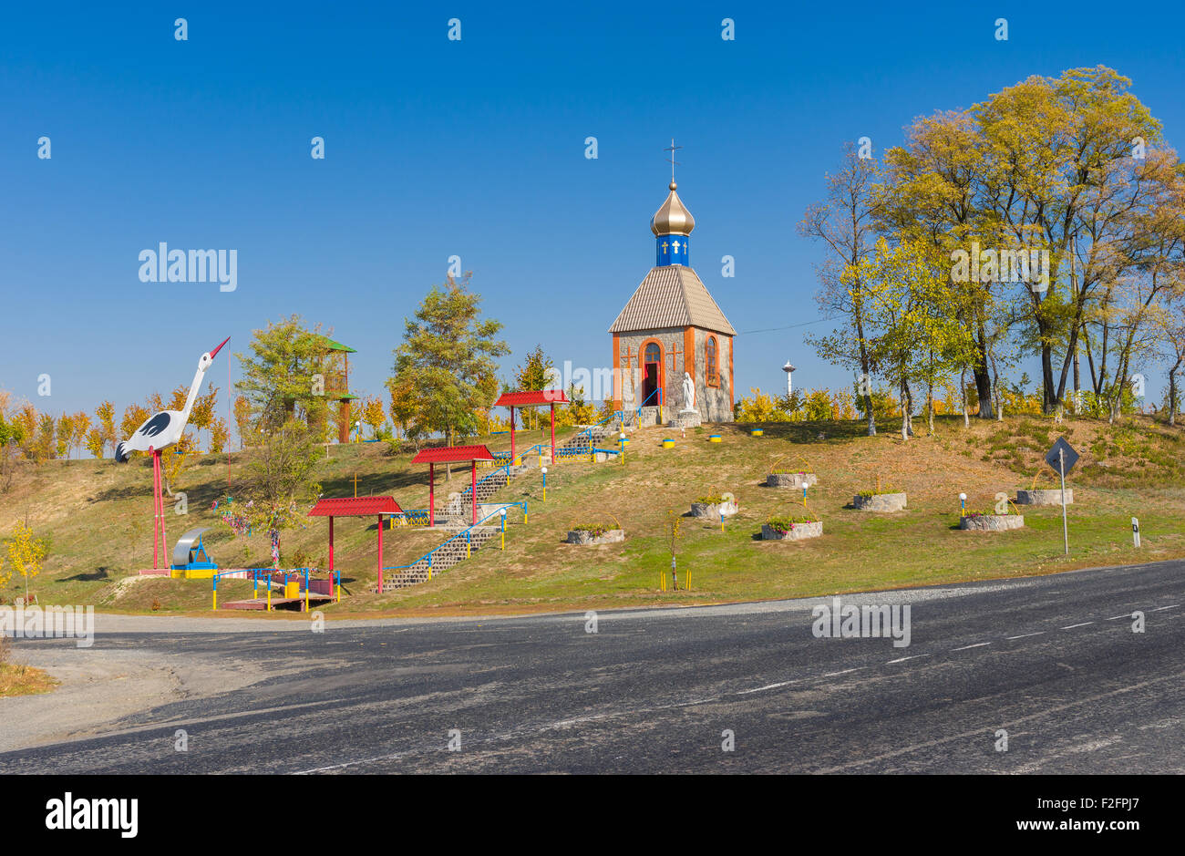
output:
[[[634,333],[662,327],[699,327],[736,336],[707,287],[694,270],[683,264],[651,268],[609,332]]]

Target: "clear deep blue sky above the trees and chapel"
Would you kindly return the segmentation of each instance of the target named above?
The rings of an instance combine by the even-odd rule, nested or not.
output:
[[[1064,9],[11,5],[0,388],[52,411],[122,409],[187,383],[226,336],[243,350],[300,313],[358,350],[354,387],[378,394],[404,317],[451,255],[506,325],[507,376],[536,343],[561,364],[607,365],[606,331],[653,264],[672,136],[692,264],[742,333],[738,390],[781,389],[787,358],[796,385],[846,383],[802,343],[827,325],[748,332],[819,317],[820,249],[795,224],[844,141],[867,135],[880,153],[915,116],[1100,63],[1133,78],[1170,142],[1185,138],[1180,5]],[[720,39],[725,17],[735,41]],[[43,135],[51,160],[37,158]],[[309,156],[315,135],[325,160]],[[237,289],[140,282],[137,255],[160,242],[236,249]],[[220,354],[211,378],[225,383]]]

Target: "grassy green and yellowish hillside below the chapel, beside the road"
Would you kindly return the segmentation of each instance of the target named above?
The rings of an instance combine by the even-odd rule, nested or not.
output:
[[[986,580],[1076,567],[1185,556],[1185,433],[1145,417],[1116,426],[1096,421],[1012,417],[963,428],[960,417],[941,419],[934,436],[903,443],[899,435],[864,436],[854,422],[766,423],[764,437],[747,426],[688,432],[668,428],[634,433],[626,462],[561,462],[550,468],[547,499],[542,475],[532,471],[498,496],[530,504],[530,523],[511,518],[506,550],[497,541],[429,583],[396,593],[369,593],[376,580],[374,523],[341,519],[335,529],[337,564],[348,593],[339,615],[399,612],[443,614],[501,611],[704,603],[803,596],[872,588]],[[717,432],[723,442],[709,443]],[[1003,534],[957,531],[957,494],[968,509],[989,510],[997,492],[1055,487],[1042,462],[1059,435],[1082,453],[1070,477],[1070,556],[1062,555],[1059,507],[1021,507],[1025,528]],[[673,436],[673,449],[661,439]],[[520,434],[520,448],[537,441]],[[483,437],[492,448],[508,439]],[[230,461],[233,493],[236,461]],[[427,505],[427,472],[411,455],[385,446],[332,447],[318,477],[326,496],[390,493],[404,507]],[[801,512],[801,494],[764,486],[779,462],[819,477],[808,507],[824,520],[824,537],[799,543],[763,542],[762,522],[774,513]],[[909,510],[879,515],[848,506],[854,493],[877,487],[909,493]],[[467,472],[438,484],[437,496],[462,490]],[[214,525],[205,539],[220,567],[268,564],[263,536],[235,537],[210,511],[228,486],[226,455],[201,458],[178,490],[188,494],[188,515],[168,517],[169,542],[186,529]],[[681,517],[678,538],[680,581],[691,571],[691,590],[658,589],[670,568],[670,512],[681,515],[699,496],[729,491],[741,512],[719,524]],[[27,516],[51,541],[51,555],[32,589],[43,603],[95,603],[101,609],[162,612],[207,609],[209,581],[132,579],[150,566],[150,461],[52,461],[21,471],[0,496],[0,536]],[[1144,547],[1132,547],[1130,518],[1141,520]],[[607,547],[563,544],[577,523],[620,522],[624,543]],[[397,528],[384,532],[384,564],[406,564],[447,537],[443,530]],[[305,530],[286,532],[283,550],[305,550],[324,564],[327,524],[310,518]],[[222,600],[249,583],[219,583]],[[11,601],[23,592],[19,577],[0,589]]]

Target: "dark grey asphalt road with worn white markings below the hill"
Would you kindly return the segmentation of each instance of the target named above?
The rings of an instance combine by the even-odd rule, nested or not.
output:
[[[831,599],[602,612],[596,633],[581,613],[101,634],[289,673],[0,772],[1185,772],[1185,562],[843,602],[909,605],[910,645],[815,638]]]

